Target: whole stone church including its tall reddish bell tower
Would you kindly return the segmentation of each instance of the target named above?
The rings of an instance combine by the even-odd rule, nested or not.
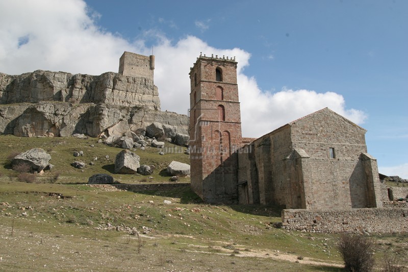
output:
[[[243,138],[235,58],[200,55],[190,82],[191,186],[203,201],[382,207],[365,129],[324,108],[258,139]]]

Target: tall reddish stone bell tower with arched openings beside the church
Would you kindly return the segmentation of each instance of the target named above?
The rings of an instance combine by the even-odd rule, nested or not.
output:
[[[242,137],[235,57],[200,55],[190,82],[191,187],[207,203],[236,202]]]

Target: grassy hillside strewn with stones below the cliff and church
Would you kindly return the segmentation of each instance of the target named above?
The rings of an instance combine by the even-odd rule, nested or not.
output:
[[[183,153],[136,151],[142,164],[157,167],[153,179],[141,181],[145,177],[112,174],[121,149],[96,139],[0,136],[0,146],[3,165],[9,153],[32,147],[48,151],[55,164],[40,183],[18,182],[13,170],[0,168],[2,271],[342,271],[338,236],[271,227],[281,220],[281,207],[206,205],[188,185],[132,192],[85,184],[99,172],[120,183],[168,182],[163,169],[172,160],[188,162]],[[84,157],[72,156],[81,150]],[[94,157],[83,172],[70,166]],[[56,183],[49,183],[57,171]],[[129,234],[132,228],[139,239]],[[408,264],[408,235],[373,238],[378,267],[384,255],[396,253]]]

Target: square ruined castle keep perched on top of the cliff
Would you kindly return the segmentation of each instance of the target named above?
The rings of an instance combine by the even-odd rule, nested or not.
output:
[[[153,82],[155,56],[143,56],[132,52],[123,52],[119,59],[119,73],[123,76],[147,78]]]

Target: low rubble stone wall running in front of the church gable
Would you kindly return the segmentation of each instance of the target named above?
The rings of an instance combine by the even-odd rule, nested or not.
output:
[[[406,233],[408,208],[282,211],[282,227],[319,233]]]

